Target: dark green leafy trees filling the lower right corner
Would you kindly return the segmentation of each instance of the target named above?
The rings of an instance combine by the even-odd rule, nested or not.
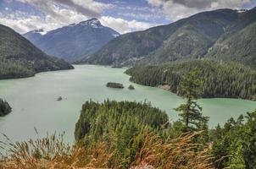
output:
[[[256,111],[228,120],[209,132],[211,153],[218,168],[256,168]]]

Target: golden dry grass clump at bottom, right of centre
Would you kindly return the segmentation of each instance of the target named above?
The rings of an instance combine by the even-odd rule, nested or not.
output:
[[[154,166],[166,169],[211,169],[213,157],[201,144],[192,144],[200,133],[185,134],[178,139],[163,141],[158,135],[147,134],[142,150],[136,154],[136,166]]]

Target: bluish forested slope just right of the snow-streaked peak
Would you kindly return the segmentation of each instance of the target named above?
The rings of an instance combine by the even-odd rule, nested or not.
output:
[[[163,25],[149,30],[120,35],[95,54],[81,60],[81,63],[97,64],[130,64],[142,59],[156,50],[168,35],[172,34],[183,24],[183,21],[173,25]]]

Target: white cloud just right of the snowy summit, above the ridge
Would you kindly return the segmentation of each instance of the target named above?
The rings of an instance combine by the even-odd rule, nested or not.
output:
[[[138,22],[136,20],[125,20],[120,18],[113,18],[109,16],[103,16],[100,18],[103,25],[109,26],[114,30],[124,34],[131,31],[146,30],[150,27],[156,26],[146,22]]]

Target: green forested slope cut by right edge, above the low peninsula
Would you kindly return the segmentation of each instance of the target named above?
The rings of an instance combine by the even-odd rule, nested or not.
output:
[[[225,35],[209,49],[206,57],[236,61],[256,68],[255,56],[256,23],[253,23],[236,33]]]

